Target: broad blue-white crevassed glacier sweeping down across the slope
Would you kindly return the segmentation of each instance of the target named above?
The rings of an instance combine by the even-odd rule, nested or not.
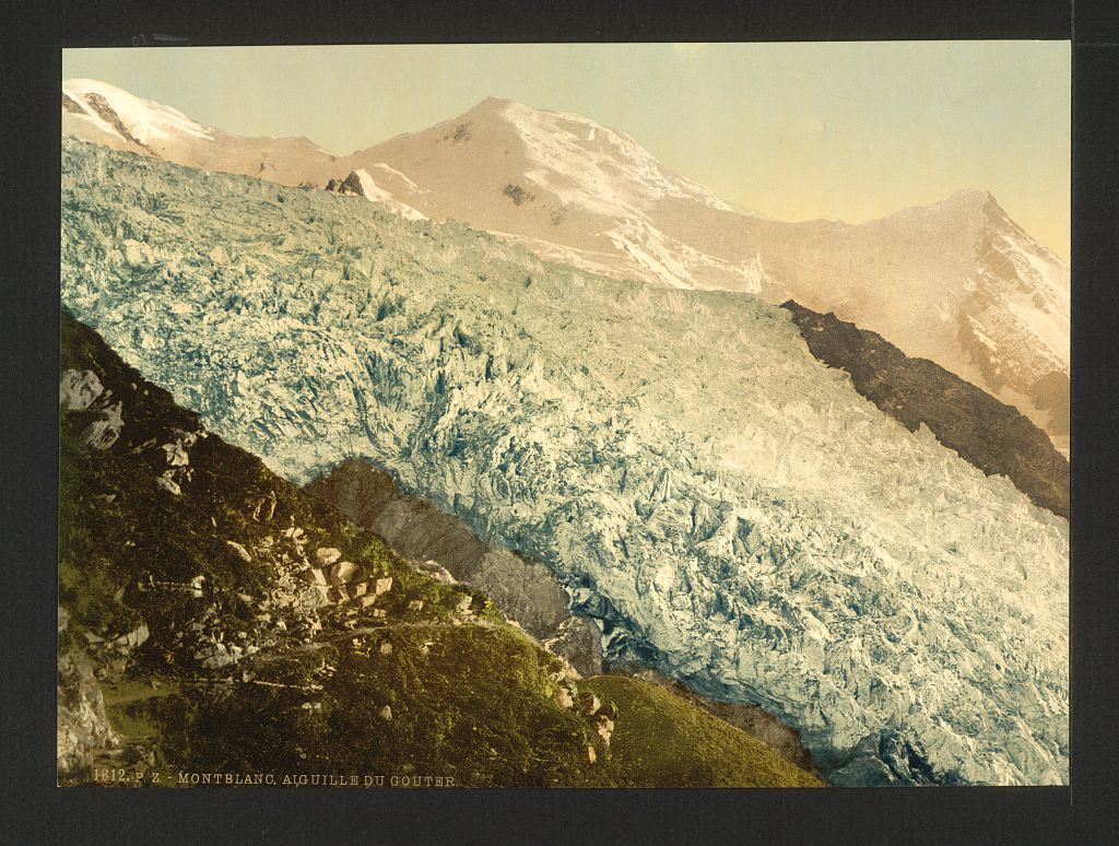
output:
[[[63,150],[63,304],[272,469],[388,469],[547,562],[612,658],[765,707],[834,783],[1068,783],[1068,523],[782,309]]]

